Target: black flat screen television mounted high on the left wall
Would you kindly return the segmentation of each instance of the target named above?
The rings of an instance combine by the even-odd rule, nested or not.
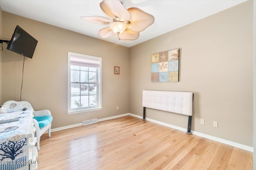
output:
[[[7,49],[32,59],[37,40],[17,25]]]

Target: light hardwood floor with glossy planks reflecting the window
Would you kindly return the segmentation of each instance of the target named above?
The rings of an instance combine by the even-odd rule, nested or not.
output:
[[[252,170],[252,152],[124,116],[41,137],[39,170]]]

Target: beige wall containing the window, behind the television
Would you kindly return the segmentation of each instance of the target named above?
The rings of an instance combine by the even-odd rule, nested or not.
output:
[[[61,29],[52,25],[2,12],[3,39],[10,40],[16,25],[38,40],[33,58],[25,57],[22,100],[35,110],[49,109],[52,128],[129,112],[129,49]],[[20,100],[23,57],[2,51],[2,103]],[[67,114],[68,51],[102,58],[102,107],[100,111]],[[120,66],[120,75],[114,74]],[[2,104],[1,103],[1,104]],[[116,110],[119,106],[119,110]]]

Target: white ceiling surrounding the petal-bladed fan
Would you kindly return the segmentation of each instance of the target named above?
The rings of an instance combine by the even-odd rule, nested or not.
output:
[[[102,0],[0,0],[3,11],[101,39],[98,31],[108,25],[91,23],[80,16],[108,17]],[[155,17],[155,22],[134,41],[116,35],[103,39],[132,47],[194,21],[238,5],[246,0],[121,0],[126,9],[137,7]],[[110,18],[111,19],[111,18]]]

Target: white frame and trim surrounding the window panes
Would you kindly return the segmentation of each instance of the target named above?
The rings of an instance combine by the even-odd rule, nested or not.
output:
[[[71,108],[71,67],[70,67],[70,57],[71,56],[77,56],[77,57],[84,57],[85,59],[97,59],[100,62],[100,66],[98,67],[98,72],[96,72],[96,74],[98,75],[98,88],[97,88],[97,92],[98,92],[98,107],[87,107],[87,108]],[[102,59],[100,57],[94,57],[94,56],[90,56],[90,55],[83,55],[83,54],[78,54],[78,53],[72,53],[72,52],[68,52],[68,114],[73,114],[73,113],[82,113],[82,112],[87,112],[87,111],[95,111],[95,110],[101,110],[102,109]],[[81,95],[80,95],[81,96]]]

